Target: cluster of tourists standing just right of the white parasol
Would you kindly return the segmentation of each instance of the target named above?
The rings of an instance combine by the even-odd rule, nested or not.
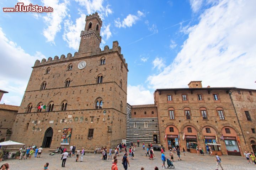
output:
[[[19,149],[19,152],[20,152],[19,160],[21,160],[22,158],[24,160],[27,158],[31,159],[33,153],[35,158],[40,158],[42,150],[43,150],[42,146],[40,148],[38,148],[36,145],[28,146],[27,148],[23,146]]]

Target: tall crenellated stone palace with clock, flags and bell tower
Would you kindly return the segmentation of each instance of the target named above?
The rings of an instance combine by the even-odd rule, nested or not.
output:
[[[74,56],[35,62],[12,140],[92,149],[116,146],[126,138],[128,64],[117,41],[112,49],[105,46],[101,51],[102,21],[97,12],[85,21]]]

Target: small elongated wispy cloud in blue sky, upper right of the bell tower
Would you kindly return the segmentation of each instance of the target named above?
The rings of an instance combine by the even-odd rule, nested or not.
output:
[[[145,16],[143,12],[137,11],[137,15],[131,15],[129,14],[126,18],[124,18],[123,21],[120,21],[120,18],[117,18],[115,22],[115,26],[118,28],[126,28],[126,27],[132,27],[133,24],[135,24],[140,17]]]

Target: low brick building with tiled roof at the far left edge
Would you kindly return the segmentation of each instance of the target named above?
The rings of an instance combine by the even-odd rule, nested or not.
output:
[[[7,91],[0,90],[0,101],[3,94]],[[18,113],[19,106],[12,106],[8,104],[0,104],[0,142],[8,141],[12,134],[12,127],[15,117]]]

